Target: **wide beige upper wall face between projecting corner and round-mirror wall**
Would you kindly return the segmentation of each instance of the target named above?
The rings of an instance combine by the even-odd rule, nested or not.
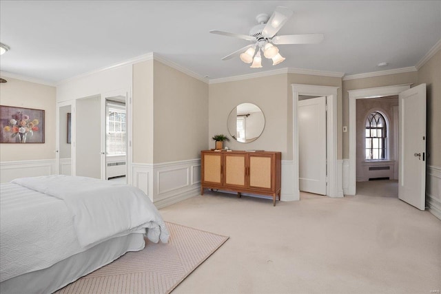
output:
[[[154,61],[154,163],[199,158],[207,149],[208,85]]]

